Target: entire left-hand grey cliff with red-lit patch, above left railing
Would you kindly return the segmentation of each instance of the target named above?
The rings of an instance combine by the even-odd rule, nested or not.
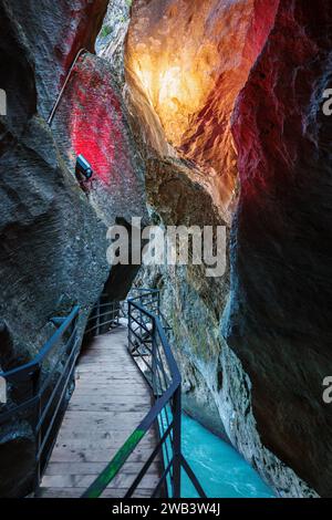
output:
[[[0,370],[29,361],[74,303],[86,315],[110,273],[108,226],[144,216],[143,164],[107,63],[82,55],[52,123],[46,118],[81,48],[93,50],[106,0],[0,2]],[[3,73],[6,71],[6,74]],[[91,96],[91,92],[94,96]],[[82,153],[95,170],[83,191]],[[123,298],[131,273],[117,284]],[[126,285],[127,284],[127,285]],[[9,389],[9,402],[15,399]],[[31,489],[31,422],[0,429],[0,495]]]

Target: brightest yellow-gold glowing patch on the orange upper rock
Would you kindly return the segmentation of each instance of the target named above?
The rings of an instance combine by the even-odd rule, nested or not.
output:
[[[160,23],[166,22],[162,20]],[[133,24],[129,35],[135,31]],[[145,41],[144,29],[139,25],[137,44],[129,38],[126,65],[160,118],[167,139],[179,146],[190,117],[204,105],[215,84],[214,69],[218,56],[214,45],[201,44],[197,49],[190,46],[190,42],[176,53],[174,37],[162,32],[156,29],[156,38]]]

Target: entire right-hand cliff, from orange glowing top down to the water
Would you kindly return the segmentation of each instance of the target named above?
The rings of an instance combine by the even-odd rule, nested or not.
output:
[[[125,55],[153,218],[231,222],[224,277],[149,268],[137,283],[162,290],[187,409],[282,497],[332,492],[319,440],[331,428],[330,27],[323,0],[136,0]]]

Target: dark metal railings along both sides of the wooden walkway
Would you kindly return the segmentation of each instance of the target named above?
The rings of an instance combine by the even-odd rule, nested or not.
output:
[[[112,461],[83,495],[100,497],[121,471],[141,440],[152,428],[157,428],[156,447],[144,462],[127,490],[125,498],[134,495],[153,462],[162,455],[162,476],[152,497],[179,498],[181,470],[191,480],[197,493],[206,498],[201,486],[181,453],[181,377],[168,341],[170,327],[159,309],[159,292],[134,290],[126,302],[108,302],[102,295],[94,306],[84,337],[107,333],[126,318],[128,350],[153,394],[153,406],[142,423],[128,437]],[[37,491],[56,440],[61,420],[74,384],[74,368],[80,355],[77,319],[80,308],[74,306],[66,318],[53,318],[56,332],[33,361],[8,372],[6,379],[8,404],[0,408],[0,426],[22,418],[32,428],[35,439],[33,490]]]

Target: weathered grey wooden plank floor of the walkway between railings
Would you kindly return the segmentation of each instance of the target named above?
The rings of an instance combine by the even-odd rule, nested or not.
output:
[[[127,352],[123,324],[93,340],[81,355],[76,387],[64,416],[39,496],[80,497],[151,408],[147,384]],[[122,498],[156,446],[155,431],[139,443],[104,497]],[[148,497],[160,476],[154,462],[135,497]]]

